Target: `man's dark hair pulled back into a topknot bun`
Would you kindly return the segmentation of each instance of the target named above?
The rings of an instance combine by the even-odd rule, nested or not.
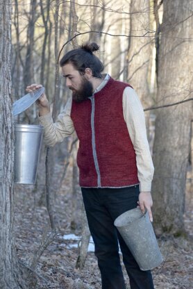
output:
[[[92,70],[92,76],[101,79],[101,72],[104,67],[101,60],[93,53],[97,50],[99,50],[99,45],[95,42],[83,44],[77,49],[68,51],[60,60],[60,66],[62,67],[67,63],[72,63],[80,74],[84,74],[85,69],[88,67]]]

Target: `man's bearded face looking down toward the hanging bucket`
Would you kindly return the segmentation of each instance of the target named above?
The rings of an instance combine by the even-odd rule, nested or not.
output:
[[[72,98],[74,101],[81,102],[92,96],[92,83],[88,81],[84,75],[70,63],[62,67],[63,75],[66,79],[67,87],[72,90]]]

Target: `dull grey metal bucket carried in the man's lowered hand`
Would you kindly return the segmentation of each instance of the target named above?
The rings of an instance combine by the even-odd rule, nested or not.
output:
[[[162,263],[163,258],[147,211],[143,214],[140,208],[128,210],[117,217],[114,224],[141,270],[151,270]]]

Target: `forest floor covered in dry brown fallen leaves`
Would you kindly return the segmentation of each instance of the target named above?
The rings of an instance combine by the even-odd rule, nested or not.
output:
[[[60,179],[61,166],[56,169],[56,183]],[[72,172],[68,170],[65,181],[56,194],[54,204],[58,234],[40,257],[34,271],[37,282],[31,288],[37,289],[100,289],[101,278],[97,259],[93,251],[87,253],[83,270],[76,269],[78,256],[77,240],[64,238],[69,234],[81,236],[81,193],[78,192],[76,208],[76,229],[71,229],[72,221]],[[20,263],[31,267],[32,258],[49,234],[50,225],[47,208],[42,205],[40,192],[44,185],[15,185],[15,238],[17,256]],[[193,288],[193,203],[192,183],[187,183],[185,202],[185,229],[183,236],[158,238],[160,251],[165,261],[153,270],[156,289],[191,289]],[[40,205],[41,203],[41,205]],[[123,266],[124,270],[124,266]],[[128,276],[124,270],[126,288],[130,288]]]

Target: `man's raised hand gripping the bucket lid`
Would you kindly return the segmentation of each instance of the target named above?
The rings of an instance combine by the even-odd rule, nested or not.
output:
[[[28,85],[26,87],[26,92],[33,92],[34,90],[37,90],[38,88],[42,88],[42,85],[41,84],[36,84],[36,83],[33,83],[31,85]],[[40,116],[41,115],[47,115],[47,113],[50,112],[50,107],[49,107],[49,101],[47,99],[47,96],[46,94],[42,94],[40,96],[39,99],[37,99],[37,104],[39,106],[39,113],[40,113]]]

